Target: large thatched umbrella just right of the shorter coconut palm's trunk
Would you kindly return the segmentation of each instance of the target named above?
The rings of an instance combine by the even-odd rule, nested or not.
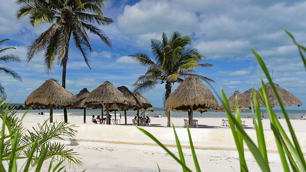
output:
[[[189,125],[192,128],[193,111],[207,112],[218,109],[219,104],[212,92],[196,77],[187,77],[170,94],[164,108],[170,111],[189,111]]]

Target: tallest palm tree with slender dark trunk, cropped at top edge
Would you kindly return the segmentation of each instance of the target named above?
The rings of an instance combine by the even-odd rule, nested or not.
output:
[[[39,24],[51,24],[47,31],[28,46],[28,62],[44,51],[45,68],[49,73],[58,56],[57,64],[63,67],[62,86],[65,88],[69,41],[72,35],[76,48],[80,50],[90,69],[89,55],[92,49],[86,32],[99,36],[107,47],[112,47],[104,32],[93,25],[109,25],[114,22],[103,16],[101,9],[104,1],[108,0],[17,0],[16,3],[21,5],[16,14],[18,19],[29,14],[30,24],[35,28]],[[64,120],[68,121],[66,108]]]

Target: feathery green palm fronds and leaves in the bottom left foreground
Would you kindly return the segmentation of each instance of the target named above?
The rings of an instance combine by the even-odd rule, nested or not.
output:
[[[4,107],[5,102],[6,98],[2,96],[0,100],[0,118],[2,120],[0,128],[1,172],[46,171],[46,169],[42,170],[42,165],[47,159],[51,159],[48,172],[66,171],[65,166],[62,166],[65,161],[79,167],[83,166],[84,163],[73,149],[65,148],[65,145],[58,143],[58,141],[51,142],[51,139],[54,138],[64,140],[63,136],[74,137],[77,132],[73,129],[76,127],[75,125],[65,122],[47,124],[46,121],[43,125],[38,124],[28,130],[22,123],[22,119],[28,111],[19,119],[14,107],[9,107],[9,103]],[[54,161],[58,161],[58,164],[52,167]],[[6,162],[7,166],[4,165]],[[20,164],[21,162],[24,163]]]

